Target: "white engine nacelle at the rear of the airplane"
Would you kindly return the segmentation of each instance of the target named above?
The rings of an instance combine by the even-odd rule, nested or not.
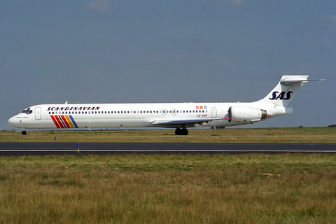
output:
[[[267,111],[253,107],[230,106],[228,113],[229,121],[235,120],[251,123],[267,118]]]

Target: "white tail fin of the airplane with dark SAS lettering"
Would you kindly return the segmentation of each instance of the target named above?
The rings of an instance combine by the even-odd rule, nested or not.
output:
[[[303,83],[307,83],[309,76],[307,75],[286,75],[282,76],[279,83],[274,89],[258,102],[266,104],[274,104],[276,106],[288,106],[296,92],[300,89]]]

